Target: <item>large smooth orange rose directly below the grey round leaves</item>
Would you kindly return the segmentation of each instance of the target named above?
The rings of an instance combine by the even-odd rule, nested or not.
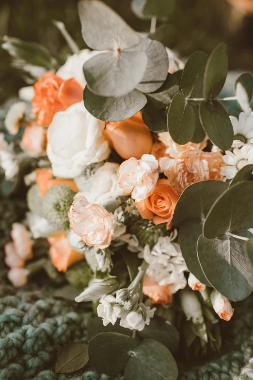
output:
[[[143,123],[140,111],[129,119],[108,123],[103,133],[111,147],[125,160],[130,157],[140,159],[152,149],[152,135]]]

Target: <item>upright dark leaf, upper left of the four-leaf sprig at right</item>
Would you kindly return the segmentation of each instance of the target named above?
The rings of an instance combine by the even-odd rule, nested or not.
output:
[[[195,51],[188,59],[181,78],[181,90],[186,98],[202,98],[207,59],[204,51]]]

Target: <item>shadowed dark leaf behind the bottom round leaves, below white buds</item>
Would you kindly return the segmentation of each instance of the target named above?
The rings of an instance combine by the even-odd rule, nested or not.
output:
[[[166,319],[155,315],[150,320],[150,324],[145,326],[138,334],[142,339],[152,338],[162,343],[172,353],[174,353],[179,345],[179,333],[176,328]]]

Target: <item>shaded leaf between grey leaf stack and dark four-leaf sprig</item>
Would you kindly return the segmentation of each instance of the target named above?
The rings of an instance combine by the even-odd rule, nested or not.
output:
[[[148,102],[154,108],[164,108],[179,92],[179,84],[174,74],[167,74],[167,78],[162,86],[155,92],[145,94]]]

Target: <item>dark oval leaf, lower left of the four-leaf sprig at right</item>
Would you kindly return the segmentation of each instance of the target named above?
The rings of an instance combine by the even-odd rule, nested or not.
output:
[[[167,123],[170,135],[177,144],[189,143],[195,129],[195,116],[191,105],[182,94],[174,96]]]

